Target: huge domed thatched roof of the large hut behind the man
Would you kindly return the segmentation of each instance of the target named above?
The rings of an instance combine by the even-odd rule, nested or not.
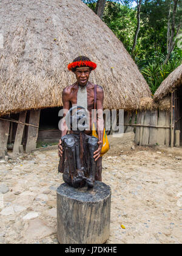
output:
[[[150,89],[109,27],[81,0],[1,0],[0,113],[62,105],[75,82],[67,64],[87,55],[98,68],[104,108],[136,109]]]

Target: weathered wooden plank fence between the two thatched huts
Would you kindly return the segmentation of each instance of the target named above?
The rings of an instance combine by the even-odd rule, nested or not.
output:
[[[124,132],[135,132],[140,146],[170,146],[170,112],[154,110],[124,114]]]

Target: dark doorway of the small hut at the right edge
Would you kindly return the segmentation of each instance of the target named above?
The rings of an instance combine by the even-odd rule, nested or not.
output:
[[[182,147],[182,85],[175,91],[175,130],[180,130],[180,147]]]

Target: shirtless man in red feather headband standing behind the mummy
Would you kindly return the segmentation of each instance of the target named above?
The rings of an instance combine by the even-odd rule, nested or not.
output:
[[[94,108],[94,85],[89,82],[90,72],[96,68],[96,64],[91,62],[89,58],[84,56],[79,56],[68,66],[69,70],[72,70],[76,75],[76,82],[73,85],[70,85],[62,91],[62,102],[63,109],[69,110],[72,105],[80,105],[79,102],[84,102],[87,104],[87,110],[90,113],[90,127],[87,130],[84,130],[86,135],[92,136],[92,109]],[[87,99],[80,99],[81,94],[79,94],[79,89],[86,89]],[[79,94],[79,98],[78,98]],[[85,94],[85,95],[86,95]],[[84,94],[83,94],[84,95]],[[104,100],[104,92],[103,88],[98,86],[96,87],[96,109],[100,110],[100,114],[96,116],[96,128],[98,132],[98,149],[93,152],[93,158],[96,162],[96,173],[95,180],[102,180],[101,172],[102,172],[102,157],[101,148],[103,146],[103,130],[104,130],[104,121],[103,121],[103,100]],[[83,103],[83,104],[84,104]],[[65,116],[65,115],[64,115]],[[67,134],[68,129],[66,126],[66,122],[63,123],[64,129],[61,131],[61,137]],[[74,132],[73,132],[74,133]],[[62,145],[61,140],[59,140],[58,144],[58,154],[59,157],[62,157]]]

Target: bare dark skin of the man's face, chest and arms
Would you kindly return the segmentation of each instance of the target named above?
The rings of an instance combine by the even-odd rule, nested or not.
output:
[[[66,109],[67,111],[70,108],[70,105],[72,106],[73,104],[77,103],[77,92],[79,86],[84,87],[87,85],[87,109],[90,113],[90,129],[85,130],[84,132],[87,135],[92,136],[92,109],[94,108],[94,85],[89,81],[89,76],[90,76],[90,69],[89,68],[81,68],[81,69],[76,69],[74,72],[76,75],[76,83],[73,85],[70,85],[62,91],[62,102],[63,102],[63,108]],[[88,82],[88,84],[87,84]],[[96,88],[96,108],[100,109],[101,111],[103,110],[103,100],[104,100],[104,91],[103,88],[97,87]],[[64,115],[65,116],[65,115]],[[101,155],[101,149],[103,146],[103,130],[104,130],[104,121],[103,121],[103,116],[97,115],[97,131],[98,131],[98,150],[93,153],[93,158],[98,160],[98,158]],[[61,137],[66,135],[68,130],[66,127],[66,123],[64,121],[64,130],[61,132]],[[61,140],[59,140],[58,144],[58,155],[59,157],[62,156],[62,146],[61,146]]]

